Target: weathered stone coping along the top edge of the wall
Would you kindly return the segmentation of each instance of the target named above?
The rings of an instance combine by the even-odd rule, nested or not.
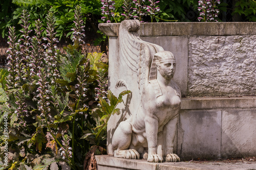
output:
[[[99,30],[118,37],[119,26],[120,23],[100,23]],[[140,36],[255,35],[255,28],[256,22],[154,22],[141,23]]]

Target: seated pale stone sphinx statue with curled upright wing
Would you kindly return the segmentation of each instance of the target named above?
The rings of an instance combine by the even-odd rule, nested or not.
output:
[[[139,27],[138,20],[124,20],[119,28],[117,62],[126,75],[116,72],[116,79],[110,80],[116,89],[131,90],[132,96],[112,132],[112,153],[126,159],[143,157],[148,162],[180,161],[173,153],[181,107],[181,92],[172,80],[175,57],[161,46],[141,40]]]

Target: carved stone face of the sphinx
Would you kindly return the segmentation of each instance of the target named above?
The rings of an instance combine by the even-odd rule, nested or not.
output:
[[[172,79],[175,74],[176,62],[175,61],[166,61],[157,64],[157,69],[166,80]]]

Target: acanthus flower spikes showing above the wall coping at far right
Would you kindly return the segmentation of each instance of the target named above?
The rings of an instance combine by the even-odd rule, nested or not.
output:
[[[203,22],[214,22],[217,21],[217,17],[219,15],[218,4],[220,4],[220,0],[200,0],[198,1],[198,11],[200,17],[198,17],[199,21]]]

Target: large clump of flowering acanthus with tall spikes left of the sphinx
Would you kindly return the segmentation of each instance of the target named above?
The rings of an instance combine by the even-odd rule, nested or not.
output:
[[[8,72],[0,71],[0,144],[8,142],[8,165],[0,161],[0,169],[82,169],[92,145],[106,148],[106,123],[119,114],[116,106],[130,91],[118,97],[107,91],[108,62],[101,53],[81,53],[81,8],[76,6],[74,14],[67,54],[57,49],[53,12],[46,17],[46,30],[40,20],[31,26],[26,10],[20,16],[22,34],[9,29]],[[8,137],[3,133],[5,112]]]

